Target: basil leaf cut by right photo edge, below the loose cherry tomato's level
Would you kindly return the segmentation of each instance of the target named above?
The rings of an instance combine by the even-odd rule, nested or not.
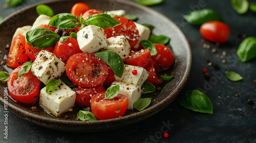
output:
[[[245,38],[238,47],[237,55],[242,62],[256,57],[256,37]]]

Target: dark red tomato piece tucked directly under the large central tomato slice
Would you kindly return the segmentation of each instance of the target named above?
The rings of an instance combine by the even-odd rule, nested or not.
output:
[[[92,96],[99,92],[105,91],[105,88],[102,85],[94,88],[77,87],[74,88],[73,91],[76,92],[76,104],[78,104],[79,106],[89,107],[91,106],[90,101],[92,99]]]

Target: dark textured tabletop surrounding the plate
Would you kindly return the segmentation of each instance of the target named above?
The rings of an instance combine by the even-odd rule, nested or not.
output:
[[[42,1],[25,0],[22,6],[8,9],[3,9],[4,1],[1,1],[0,16],[6,17],[17,9]],[[234,52],[244,39],[243,34],[256,36],[256,13],[248,11],[239,15],[231,8],[230,1],[210,0],[165,0],[163,4],[151,8],[176,22],[190,40],[193,67],[182,92],[203,90],[214,106],[213,114],[187,110],[175,100],[159,113],[129,127],[98,133],[67,133],[33,125],[9,113],[9,134],[5,139],[4,110],[1,106],[0,142],[256,142],[256,105],[246,103],[248,99],[256,103],[256,59],[242,63]],[[216,10],[225,19],[231,29],[227,43],[217,46],[202,41],[199,27],[190,25],[182,18],[191,10],[204,8]],[[240,36],[236,36],[237,33]],[[209,44],[210,49],[203,48],[204,43]],[[212,49],[217,52],[212,53]],[[223,51],[226,52],[226,56],[223,56],[226,63],[220,58]],[[220,69],[236,71],[243,80],[229,81],[223,70],[208,66],[206,59],[219,64]],[[203,68],[208,69],[211,75],[209,80],[203,79]],[[236,97],[236,94],[240,96]],[[169,126],[166,128],[166,125]],[[168,138],[163,138],[162,130],[169,133]]]

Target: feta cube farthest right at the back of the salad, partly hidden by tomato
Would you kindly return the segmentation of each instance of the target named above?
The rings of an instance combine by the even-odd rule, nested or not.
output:
[[[139,23],[136,23],[136,22],[134,22],[134,23],[139,31],[139,40],[136,43],[136,45],[134,46],[134,48],[138,49],[140,46],[140,41],[147,40],[148,38],[150,38],[151,31],[149,28],[147,28]]]

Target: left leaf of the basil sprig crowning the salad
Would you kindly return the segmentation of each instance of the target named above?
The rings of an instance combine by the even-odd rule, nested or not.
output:
[[[61,29],[75,29],[81,25],[79,18],[70,13],[60,13],[51,18],[49,26]]]

